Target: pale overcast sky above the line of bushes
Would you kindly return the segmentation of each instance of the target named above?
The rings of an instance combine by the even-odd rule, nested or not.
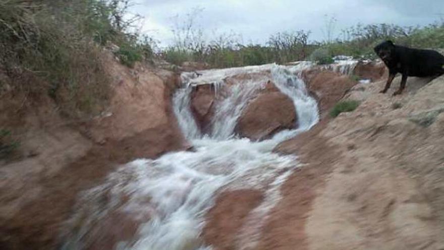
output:
[[[173,41],[174,16],[184,20],[195,8],[208,38],[235,32],[244,43],[263,43],[276,32],[310,30],[310,40],[323,40],[325,15],[337,19],[341,29],[357,23],[426,25],[444,17],[444,0],[137,0],[132,12],[145,17],[143,32],[162,45]]]

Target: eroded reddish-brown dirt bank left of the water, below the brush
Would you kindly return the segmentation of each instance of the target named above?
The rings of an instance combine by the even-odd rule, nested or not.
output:
[[[20,113],[6,99],[0,105],[2,124],[17,128],[25,156],[0,167],[0,248],[57,249],[82,190],[119,164],[187,147],[171,107],[178,76],[142,65],[130,70],[111,56],[107,67],[114,95],[100,117],[67,121],[50,99]],[[116,217],[108,224],[126,221]],[[128,235],[109,231],[97,245],[112,246]]]

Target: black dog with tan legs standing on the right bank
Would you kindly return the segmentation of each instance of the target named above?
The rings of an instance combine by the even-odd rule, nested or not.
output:
[[[384,41],[375,46],[374,51],[388,68],[387,83],[380,93],[385,93],[390,88],[397,73],[402,74],[401,86],[393,95],[402,93],[408,76],[444,74],[444,56],[430,49],[408,48],[395,45],[392,41]]]

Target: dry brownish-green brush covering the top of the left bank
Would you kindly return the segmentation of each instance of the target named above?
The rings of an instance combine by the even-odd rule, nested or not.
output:
[[[149,44],[128,32],[127,0],[0,0],[0,72],[15,91],[47,93],[63,114],[79,117],[106,105],[110,79],[102,47],[132,67],[152,55]],[[145,40],[146,41],[146,40]]]

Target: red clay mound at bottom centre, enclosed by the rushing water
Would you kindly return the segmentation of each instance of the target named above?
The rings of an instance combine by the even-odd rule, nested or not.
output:
[[[205,242],[213,245],[215,249],[234,249],[238,230],[249,212],[259,206],[262,199],[263,193],[253,189],[225,191],[219,194],[217,206],[206,215],[203,229]]]

